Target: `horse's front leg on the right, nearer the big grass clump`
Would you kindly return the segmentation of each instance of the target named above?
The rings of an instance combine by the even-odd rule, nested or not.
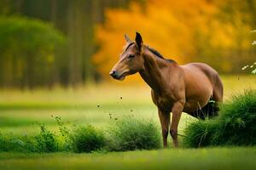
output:
[[[184,104],[182,102],[177,102],[172,106],[172,124],[170,127],[170,133],[174,147],[177,147],[177,126],[183,112],[183,106]]]

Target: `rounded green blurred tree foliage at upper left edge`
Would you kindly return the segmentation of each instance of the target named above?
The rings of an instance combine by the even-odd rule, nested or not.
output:
[[[0,36],[1,53],[8,54],[48,54],[53,52],[56,43],[65,41],[49,24],[20,16],[1,17]]]

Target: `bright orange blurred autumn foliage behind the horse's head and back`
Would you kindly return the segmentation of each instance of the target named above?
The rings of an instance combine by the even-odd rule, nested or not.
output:
[[[110,78],[108,72],[125,45],[124,34],[133,38],[135,31],[142,34],[144,43],[179,64],[195,59],[196,36],[213,35],[214,38],[203,40],[216,46],[233,46],[234,27],[223,27],[218,20],[212,20],[218,8],[209,2],[212,1],[149,0],[144,8],[131,3],[128,10],[108,9],[105,24],[96,28],[96,40],[101,45],[93,57],[97,71],[102,77]]]

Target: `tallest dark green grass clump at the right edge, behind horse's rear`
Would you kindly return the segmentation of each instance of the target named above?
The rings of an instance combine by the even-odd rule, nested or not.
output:
[[[222,113],[214,144],[256,144],[256,91],[234,95],[232,101],[223,105]]]

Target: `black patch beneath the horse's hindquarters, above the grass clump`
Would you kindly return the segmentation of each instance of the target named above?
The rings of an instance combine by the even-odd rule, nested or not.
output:
[[[218,116],[218,111],[218,103],[211,99],[207,103],[207,105],[205,105],[200,110],[196,111],[196,116],[202,120],[205,120],[207,117],[213,118],[215,116]]]

